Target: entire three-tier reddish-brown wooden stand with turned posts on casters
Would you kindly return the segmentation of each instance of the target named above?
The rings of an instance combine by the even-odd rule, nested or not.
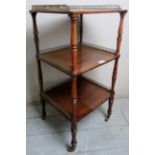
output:
[[[114,102],[115,83],[120,57],[123,22],[127,10],[117,5],[107,6],[67,6],[67,5],[34,5],[30,11],[33,21],[34,43],[38,66],[38,79],[40,86],[40,100],[42,103],[42,119],[46,118],[45,102],[50,103],[69,121],[71,121],[71,145],[68,151],[75,150],[77,145],[77,122],[109,100],[106,121],[112,114]],[[71,44],[55,48],[40,50],[37,13],[67,14],[71,19]],[[119,13],[120,24],[118,28],[116,50],[101,48],[83,42],[83,15],[95,13]],[[100,65],[115,61],[112,85],[107,88],[93,80],[85,78],[82,73],[92,70]],[[44,89],[41,62],[47,63],[58,70],[68,74],[71,78],[54,88]],[[88,97],[89,96],[89,97]]]

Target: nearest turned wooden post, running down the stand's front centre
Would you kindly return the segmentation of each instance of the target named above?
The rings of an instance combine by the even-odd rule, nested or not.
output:
[[[72,97],[72,120],[71,120],[71,133],[72,140],[71,146],[68,148],[68,151],[72,152],[75,150],[77,145],[76,133],[77,133],[77,18],[78,15],[72,14],[71,16],[71,60],[72,60],[72,85],[71,85],[71,97]]]

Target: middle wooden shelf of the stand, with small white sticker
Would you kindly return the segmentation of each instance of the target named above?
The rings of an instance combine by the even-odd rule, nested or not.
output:
[[[45,51],[43,51],[45,52]],[[76,75],[87,72],[117,58],[114,50],[83,44],[78,47]],[[39,59],[55,68],[71,75],[71,47],[61,47],[46,50]]]

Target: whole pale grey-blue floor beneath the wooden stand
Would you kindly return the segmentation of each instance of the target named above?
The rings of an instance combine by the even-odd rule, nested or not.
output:
[[[77,149],[70,144],[70,123],[47,105],[41,120],[39,104],[27,104],[27,155],[128,155],[128,99],[115,100],[112,117],[104,121],[107,102],[78,123]]]

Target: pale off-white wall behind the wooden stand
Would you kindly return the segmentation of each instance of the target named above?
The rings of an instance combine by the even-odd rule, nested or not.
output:
[[[27,0],[26,15],[26,45],[27,45],[27,103],[39,101],[39,87],[37,79],[37,68],[35,60],[35,47],[32,35],[32,20],[29,9],[32,4],[71,4],[71,5],[104,5],[118,4],[122,8],[128,9],[126,0]],[[59,45],[64,45],[70,41],[70,19],[67,15],[58,14],[38,14],[38,28],[40,32],[40,47],[46,49]],[[119,23],[118,14],[98,14],[84,16],[84,41],[95,43],[100,46],[115,48],[117,28]],[[125,19],[123,42],[121,48],[121,58],[116,83],[116,97],[128,97],[129,93],[129,41],[128,41],[128,14]],[[113,63],[104,65],[88,72],[86,75],[110,86]],[[45,85],[55,83],[68,78],[62,72],[43,65]]]

